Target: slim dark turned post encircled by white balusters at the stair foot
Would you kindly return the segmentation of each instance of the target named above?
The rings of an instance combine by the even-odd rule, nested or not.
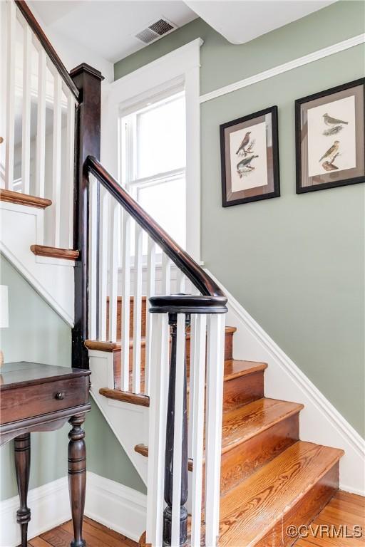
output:
[[[168,314],[171,336],[170,375],[168,382],[168,420],[166,424],[165,448],[165,502],[163,512],[163,546],[171,545],[171,528],[173,517],[173,459],[174,459],[174,420],[175,420],[175,381],[176,381],[176,347],[178,334],[177,313]],[[186,326],[190,325],[190,316],[186,316]],[[180,546],[187,540],[187,389],[186,389],[186,355],[184,360],[183,386],[183,442],[181,445],[181,497],[180,497]]]

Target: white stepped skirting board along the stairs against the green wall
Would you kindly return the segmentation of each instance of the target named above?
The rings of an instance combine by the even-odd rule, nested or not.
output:
[[[365,440],[232,294],[210,271],[207,272],[228,298],[227,324],[237,327],[233,357],[268,363],[265,396],[304,404],[300,414],[300,438],[344,449],[345,455],[340,462],[340,488],[364,496]]]

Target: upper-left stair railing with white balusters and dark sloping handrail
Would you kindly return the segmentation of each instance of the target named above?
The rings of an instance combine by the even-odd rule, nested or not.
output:
[[[51,199],[36,243],[72,249],[78,89],[26,2],[0,9],[1,191]]]

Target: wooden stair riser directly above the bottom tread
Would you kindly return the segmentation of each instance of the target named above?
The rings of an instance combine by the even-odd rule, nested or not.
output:
[[[222,454],[220,493],[247,479],[299,439],[299,412]]]

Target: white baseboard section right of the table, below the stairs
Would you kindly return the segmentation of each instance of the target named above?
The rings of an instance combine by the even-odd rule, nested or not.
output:
[[[139,541],[146,526],[147,496],[88,471],[85,514],[124,536]]]

